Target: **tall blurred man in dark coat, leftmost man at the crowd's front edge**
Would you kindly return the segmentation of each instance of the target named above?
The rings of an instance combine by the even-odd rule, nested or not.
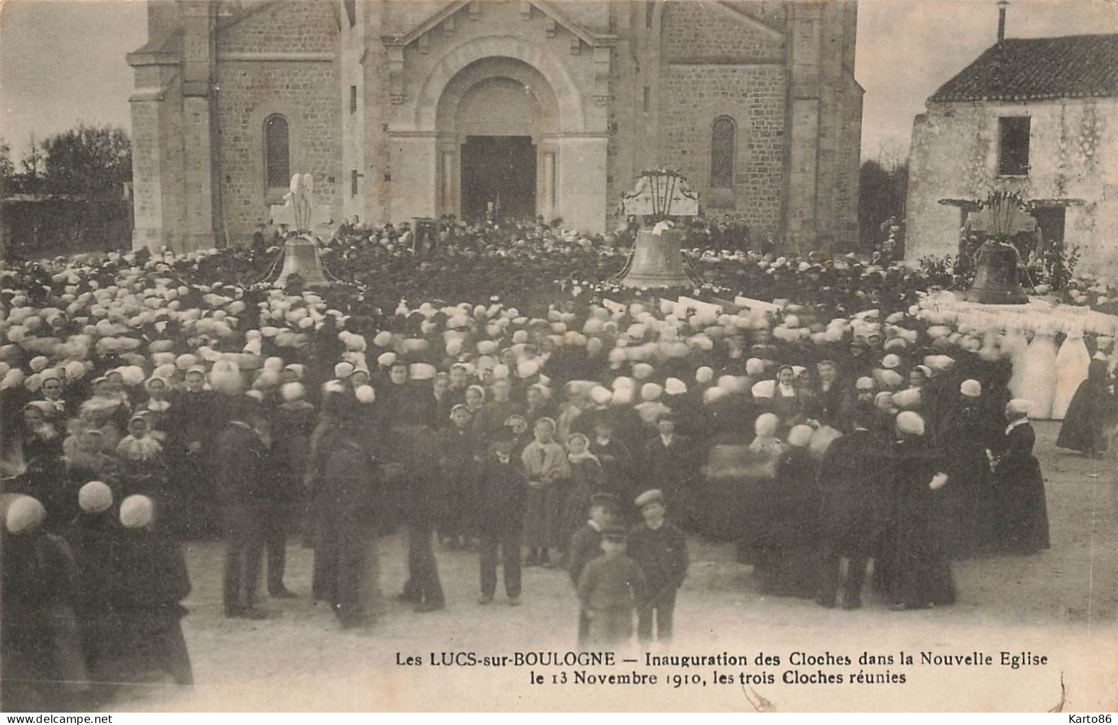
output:
[[[236,404],[233,420],[216,441],[217,492],[225,531],[225,616],[260,619],[256,581],[264,554],[262,498],[272,456],[269,421],[249,399]]]

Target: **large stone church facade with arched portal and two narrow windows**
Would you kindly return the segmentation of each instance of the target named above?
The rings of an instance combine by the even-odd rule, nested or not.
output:
[[[129,54],[133,246],[241,239],[292,173],[335,219],[591,232],[643,169],[789,248],[858,238],[854,0],[165,0]]]

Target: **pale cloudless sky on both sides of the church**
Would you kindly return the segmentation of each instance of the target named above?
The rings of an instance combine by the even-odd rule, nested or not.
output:
[[[994,0],[860,0],[854,76],[865,89],[862,158],[903,159],[912,116],[991,46]],[[1012,0],[1007,37],[1118,32],[1118,0]],[[132,69],[146,41],[144,0],[0,0],[0,136],[17,161],[85,121],[130,126]]]

